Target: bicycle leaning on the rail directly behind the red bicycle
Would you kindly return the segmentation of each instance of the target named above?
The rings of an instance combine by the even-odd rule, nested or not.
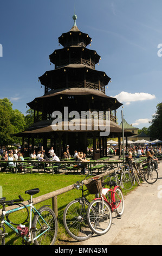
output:
[[[125,190],[130,190],[133,186],[133,176],[129,170],[125,169],[125,166],[119,166],[119,169],[114,169],[114,173],[111,175],[111,181],[115,180],[116,185],[124,188]]]

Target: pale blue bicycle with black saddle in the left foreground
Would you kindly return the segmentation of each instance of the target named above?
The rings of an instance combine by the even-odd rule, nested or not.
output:
[[[33,195],[40,192],[39,188],[25,191],[25,194],[30,195],[30,203],[24,205],[22,202],[24,199],[18,196],[19,199],[6,201],[5,197],[0,199],[0,205],[2,205],[2,215],[0,217],[0,244],[5,245],[5,236],[8,235],[5,230],[5,225],[13,230],[17,236],[22,237],[23,244],[34,245],[54,245],[57,236],[57,219],[53,210],[47,205],[42,206],[36,210],[33,205]],[[17,205],[17,208],[6,211],[6,205]],[[29,210],[30,208],[30,216]],[[20,224],[16,224],[9,220],[9,215],[16,211],[25,209],[27,218]],[[32,221],[32,213],[34,214]],[[23,224],[28,223],[29,228]],[[14,225],[17,227],[15,228]]]

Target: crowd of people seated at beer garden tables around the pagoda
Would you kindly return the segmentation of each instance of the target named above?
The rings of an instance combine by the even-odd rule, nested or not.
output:
[[[107,153],[109,155],[116,155],[116,148],[107,148]],[[1,155],[1,160],[9,161],[8,166],[11,166],[11,167],[16,166],[16,163],[14,162],[15,160],[24,161],[23,154],[21,153],[21,150],[18,150],[18,149],[7,150],[7,149],[0,148],[0,155]],[[154,160],[155,167],[158,168],[157,156],[162,157],[162,150],[161,150],[161,146],[152,147],[152,146],[145,145],[144,147],[140,147],[140,146],[135,145],[134,147],[129,147],[127,149],[127,152],[125,149],[125,155],[128,160],[133,159],[133,157],[139,158],[141,156],[147,156],[148,160]],[[70,157],[69,145],[67,145],[66,150],[62,154],[62,159],[66,160],[66,159],[69,159],[69,157]],[[75,165],[76,165],[76,167],[81,168],[81,174],[85,174],[86,167],[87,167],[86,154],[75,150],[74,155],[72,157],[76,162],[79,162]],[[37,154],[36,154],[36,151],[34,150],[30,154],[29,160],[38,160],[38,161],[49,160],[49,161],[60,162],[60,159],[55,154],[53,147],[50,148],[50,150],[48,151],[48,156],[47,156],[45,153],[45,150],[43,149],[43,146],[38,150]],[[55,163],[55,164],[59,165],[59,163]],[[4,166],[3,168],[6,168],[6,167]]]

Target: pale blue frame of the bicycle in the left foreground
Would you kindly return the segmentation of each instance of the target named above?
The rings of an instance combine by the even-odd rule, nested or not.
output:
[[[38,237],[40,237],[41,235],[43,235],[44,233],[46,233],[46,231],[48,231],[48,230],[50,229],[50,227],[49,227],[49,225],[46,223],[46,221],[44,220],[44,218],[41,216],[40,212],[38,212],[38,211],[36,210],[36,208],[33,206],[32,203],[26,205],[26,207],[27,207],[27,208],[30,207],[29,238],[28,238],[27,236],[23,236],[23,239],[24,239],[25,241],[27,241],[28,243],[30,243],[30,242],[33,243],[36,239],[38,239]],[[18,208],[16,208],[16,209],[12,209],[12,210],[9,210],[9,211],[4,211],[4,210],[2,211],[1,224],[2,224],[2,225],[4,225],[4,224],[7,225],[7,226],[8,226],[10,229],[12,229],[18,236],[21,236],[20,233],[19,233],[19,231],[18,231],[13,225],[11,225],[7,220],[4,220],[4,218],[5,218],[6,215],[12,214],[13,212],[16,212],[16,211],[20,211],[20,210],[22,210],[22,209],[24,209],[24,208],[25,208],[25,206],[21,206],[21,207],[18,207]],[[39,216],[42,218],[42,220],[44,221],[44,223],[46,223],[46,225],[48,226],[48,229],[46,229],[45,231],[43,231],[40,235],[36,236],[35,238],[33,238],[32,230],[31,230],[32,212],[34,213],[34,215],[35,215],[35,214],[39,215]],[[1,227],[1,224],[0,224],[0,227]]]

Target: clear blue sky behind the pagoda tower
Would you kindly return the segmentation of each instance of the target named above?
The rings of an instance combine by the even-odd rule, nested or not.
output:
[[[92,38],[87,48],[101,56],[96,69],[112,78],[106,94],[124,103],[119,124],[122,110],[129,124],[150,126],[162,92],[160,0],[2,0],[0,98],[25,114],[44,94],[38,77],[54,69],[49,55],[62,48],[58,38],[73,26],[74,5],[77,27]]]

